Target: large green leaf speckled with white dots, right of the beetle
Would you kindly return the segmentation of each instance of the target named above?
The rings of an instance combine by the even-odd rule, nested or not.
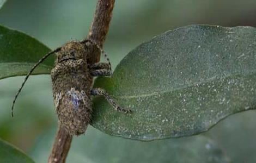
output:
[[[92,125],[153,140],[202,133],[228,115],[255,109],[255,36],[253,27],[192,25],[143,43],[113,78],[95,82],[133,114],[120,114],[97,97]]]

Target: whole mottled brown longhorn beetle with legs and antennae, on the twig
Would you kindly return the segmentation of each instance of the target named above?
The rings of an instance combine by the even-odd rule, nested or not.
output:
[[[51,71],[53,99],[59,123],[65,128],[67,133],[70,135],[80,135],[86,131],[93,111],[92,101],[90,99],[91,95],[104,96],[115,110],[125,114],[131,113],[131,110],[121,108],[105,90],[101,88],[92,89],[92,77],[111,76],[112,71],[108,58],[108,63],[87,64],[88,52],[86,51],[86,47],[89,44],[96,45],[107,58],[106,53],[103,52],[101,47],[91,40],[81,42],[71,41],[47,53],[27,74],[14,98],[13,105],[11,106],[11,115],[13,116],[17,96],[19,96],[28,77],[36,66],[54,53],[57,54],[57,59]]]

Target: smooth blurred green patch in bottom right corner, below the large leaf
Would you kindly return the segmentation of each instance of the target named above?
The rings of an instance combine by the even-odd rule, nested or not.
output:
[[[256,111],[232,115],[205,133],[221,146],[233,163],[256,162]]]

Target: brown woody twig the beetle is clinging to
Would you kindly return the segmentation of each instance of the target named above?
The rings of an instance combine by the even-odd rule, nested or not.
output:
[[[97,2],[94,19],[90,27],[87,39],[97,43],[100,47],[106,39],[108,33],[109,23],[112,18],[112,11],[114,8],[115,0],[99,0]],[[87,47],[88,51],[88,64],[93,64],[100,61],[100,50],[91,45]],[[91,79],[92,81],[92,79]],[[59,126],[58,132],[53,143],[52,152],[48,158],[48,163],[60,162],[63,163],[68,156],[69,148],[71,145],[72,136],[67,134],[65,130]]]

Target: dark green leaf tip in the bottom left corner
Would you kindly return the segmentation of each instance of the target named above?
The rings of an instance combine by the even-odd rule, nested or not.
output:
[[[25,153],[21,152],[19,149],[10,145],[9,143],[0,139],[0,162],[34,162]]]

